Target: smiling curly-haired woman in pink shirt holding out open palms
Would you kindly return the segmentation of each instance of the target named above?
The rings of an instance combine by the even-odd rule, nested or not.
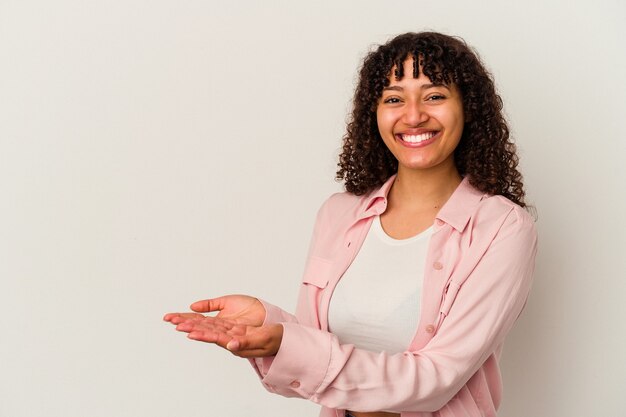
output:
[[[361,69],[337,173],[347,192],[318,213],[295,316],[231,295],[165,320],[250,358],[268,390],[321,416],[495,416],[536,251],[516,166],[476,55],[400,35]]]

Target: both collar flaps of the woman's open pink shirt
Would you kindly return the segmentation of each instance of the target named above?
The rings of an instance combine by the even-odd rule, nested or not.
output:
[[[378,190],[373,191],[365,197],[363,212],[360,216],[361,219],[377,216],[385,212],[387,209],[387,194],[395,179],[396,176],[392,175]],[[485,193],[474,188],[474,186],[470,184],[469,178],[465,177],[441,210],[439,210],[436,218],[448,223],[459,232],[462,232],[474,212],[472,208],[476,206],[484,196]]]

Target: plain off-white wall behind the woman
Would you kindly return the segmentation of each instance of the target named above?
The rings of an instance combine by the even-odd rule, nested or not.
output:
[[[496,77],[537,207],[502,417],[626,412],[626,6],[0,0],[0,417],[315,416],[161,322],[293,310],[372,45],[433,29]]]

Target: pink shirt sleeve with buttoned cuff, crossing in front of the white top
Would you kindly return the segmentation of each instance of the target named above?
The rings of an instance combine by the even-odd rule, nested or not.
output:
[[[369,352],[342,345],[329,332],[282,321],[281,347],[259,374],[265,387],[330,408],[439,410],[496,351],[524,307],[537,236],[530,216],[520,211],[509,213],[424,348]]]

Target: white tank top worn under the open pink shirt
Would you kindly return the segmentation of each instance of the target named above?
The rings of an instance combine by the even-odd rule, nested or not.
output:
[[[342,344],[404,352],[417,329],[429,227],[409,239],[388,236],[376,216],[356,258],[335,288],[328,325]]]

